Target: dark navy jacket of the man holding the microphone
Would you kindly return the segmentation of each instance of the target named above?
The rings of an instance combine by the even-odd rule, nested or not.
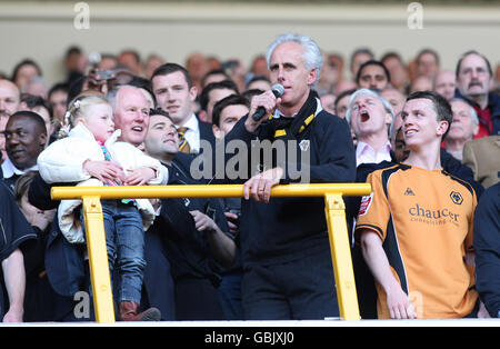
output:
[[[262,123],[250,133],[244,128],[246,119],[239,120],[224,140],[242,140],[251,149],[252,140],[267,139],[270,126]],[[322,110],[298,136],[297,142],[310,151],[307,169],[310,182],[354,181],[354,147],[346,120]],[[301,150],[302,147],[297,149],[296,166],[300,164]],[[293,166],[289,159],[287,157],[287,163]],[[248,169],[253,171],[252,161],[248,160]],[[288,173],[283,182],[291,182],[287,177]],[[329,246],[323,198],[271,198],[269,203],[250,199],[242,201],[241,211],[240,241],[244,268],[301,259]]]

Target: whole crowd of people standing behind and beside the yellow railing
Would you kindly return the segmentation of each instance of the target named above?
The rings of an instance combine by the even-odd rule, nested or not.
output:
[[[323,199],[270,195],[303,176],[371,183],[344,199],[362,319],[500,317],[500,69],[481,52],[450,71],[432,49],[348,59],[287,33],[249,69],[200,52],[89,63],[78,47],[64,64],[63,82],[32,59],[0,77],[4,322],[94,319],[91,301],[77,311],[92,297],[81,201],[54,186],[244,185],[101,200],[118,320],[339,317]]]

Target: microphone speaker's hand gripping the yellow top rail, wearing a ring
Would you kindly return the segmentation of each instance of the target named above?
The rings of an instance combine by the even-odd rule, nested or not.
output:
[[[253,176],[243,186],[243,198],[269,202],[271,188],[279,185],[282,177],[283,169],[280,167]]]

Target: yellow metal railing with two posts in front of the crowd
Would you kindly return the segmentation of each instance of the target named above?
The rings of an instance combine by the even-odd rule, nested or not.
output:
[[[271,197],[324,197],[324,213],[337,286],[340,317],[359,320],[358,296],[346,225],[342,196],[366,196],[369,183],[313,183],[276,186]],[[231,186],[140,186],[140,187],[54,187],[53,200],[81,199],[86,223],[87,249],[97,322],[114,322],[108,253],[101,199],[121,198],[238,198],[242,185]]]

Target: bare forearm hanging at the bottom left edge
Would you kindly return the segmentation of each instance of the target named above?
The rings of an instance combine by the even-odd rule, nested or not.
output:
[[[9,311],[3,317],[3,322],[22,322],[26,272],[24,258],[20,249],[16,249],[2,261],[2,270],[10,303]]]

